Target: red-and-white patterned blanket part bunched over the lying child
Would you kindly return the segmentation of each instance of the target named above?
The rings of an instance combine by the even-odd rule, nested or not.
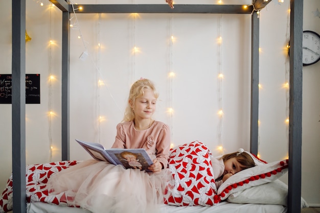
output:
[[[210,159],[211,152],[199,141],[170,150],[173,180],[164,192],[164,203],[176,206],[212,206],[219,203]]]

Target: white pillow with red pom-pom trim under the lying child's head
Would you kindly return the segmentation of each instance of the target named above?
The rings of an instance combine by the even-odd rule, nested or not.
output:
[[[257,160],[255,159],[255,156],[253,156],[253,158],[255,161]],[[217,195],[219,199],[225,200],[233,193],[243,191],[252,186],[262,185],[277,180],[287,171],[288,160],[280,160],[271,163],[260,161],[256,167],[242,170],[228,178],[218,188]]]

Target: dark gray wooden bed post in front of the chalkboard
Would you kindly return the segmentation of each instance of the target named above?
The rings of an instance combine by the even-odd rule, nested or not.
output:
[[[26,212],[26,0],[12,1],[13,211]]]

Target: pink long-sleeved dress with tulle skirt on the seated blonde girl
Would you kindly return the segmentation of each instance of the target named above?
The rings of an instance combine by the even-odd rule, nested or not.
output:
[[[112,148],[144,148],[151,159],[168,164],[170,131],[166,124],[154,122],[146,130],[135,130],[133,122],[117,126]],[[49,192],[65,193],[66,203],[95,213],[157,212],[163,204],[163,190],[172,179],[169,169],[147,173],[124,169],[105,161],[85,160],[53,175]]]

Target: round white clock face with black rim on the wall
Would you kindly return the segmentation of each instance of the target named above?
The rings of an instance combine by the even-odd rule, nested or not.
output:
[[[308,66],[320,60],[320,36],[312,31],[303,31],[303,65]]]

